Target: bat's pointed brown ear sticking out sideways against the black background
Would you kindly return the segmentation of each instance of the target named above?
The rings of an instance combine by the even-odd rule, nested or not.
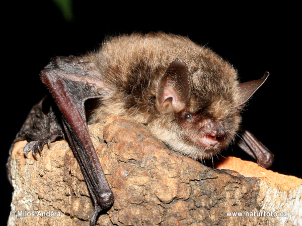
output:
[[[256,90],[265,82],[269,73],[265,72],[263,77],[259,80],[247,81],[238,84],[239,92],[240,92],[240,102],[244,104],[248,99],[256,92]]]

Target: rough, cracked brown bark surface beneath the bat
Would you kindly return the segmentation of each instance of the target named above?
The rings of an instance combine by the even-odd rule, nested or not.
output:
[[[109,117],[89,129],[115,195],[98,225],[302,225],[301,179],[282,187],[267,178],[203,166],[168,150],[126,118]],[[24,157],[25,144],[17,143],[12,153],[16,215],[8,225],[89,225],[93,203],[67,142],[57,141],[50,150],[44,146],[38,161]],[[227,216],[265,210],[287,211],[287,217]]]

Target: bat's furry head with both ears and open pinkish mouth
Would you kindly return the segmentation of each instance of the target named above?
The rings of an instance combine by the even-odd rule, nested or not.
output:
[[[239,83],[236,70],[222,60],[220,67],[205,65],[192,70],[190,62],[171,62],[157,83],[161,117],[148,125],[170,148],[194,159],[211,157],[234,141],[243,103],[262,84]]]

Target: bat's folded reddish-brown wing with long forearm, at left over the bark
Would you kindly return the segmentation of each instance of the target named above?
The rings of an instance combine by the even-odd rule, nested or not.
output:
[[[114,201],[86,123],[85,100],[100,97],[106,90],[105,83],[95,73],[89,60],[69,56],[52,59],[40,74],[62,113],[66,137],[94,201],[91,225],[95,225],[98,213]]]

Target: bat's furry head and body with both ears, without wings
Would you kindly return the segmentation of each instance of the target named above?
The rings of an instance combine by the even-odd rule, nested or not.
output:
[[[93,62],[112,88],[96,122],[108,115],[130,117],[194,159],[210,157],[234,140],[244,102],[262,84],[240,84],[231,64],[181,36],[122,36],[99,54],[102,60]]]

